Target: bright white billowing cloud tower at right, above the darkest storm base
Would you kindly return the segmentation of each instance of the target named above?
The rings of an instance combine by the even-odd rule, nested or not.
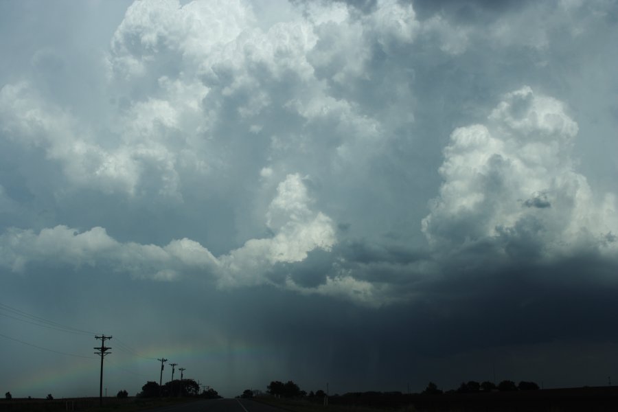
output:
[[[615,251],[616,196],[595,196],[577,173],[576,135],[564,104],[529,87],[507,93],[487,124],[457,128],[439,168],[439,197],[422,222],[432,247],[489,242],[513,258]]]

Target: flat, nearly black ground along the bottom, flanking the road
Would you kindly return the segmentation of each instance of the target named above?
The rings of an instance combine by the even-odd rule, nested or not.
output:
[[[321,391],[320,391],[321,392]],[[275,408],[294,412],[610,412],[618,409],[618,387],[582,387],[565,389],[536,389],[490,391],[488,393],[413,393],[400,392],[357,392],[328,396],[323,393],[284,395],[260,393],[253,396],[245,391],[238,396],[242,400],[253,400]],[[201,410],[209,411],[217,406],[216,392],[175,398],[148,397],[142,393],[138,397],[104,398],[104,406],[99,406],[98,398],[67,399],[12,399],[0,402],[2,411],[174,411],[186,402],[211,399],[211,403],[200,404]],[[235,403],[231,405],[236,406]],[[218,404],[220,407],[220,404]],[[214,409],[213,409],[214,410]],[[248,409],[252,411],[253,409]]]

